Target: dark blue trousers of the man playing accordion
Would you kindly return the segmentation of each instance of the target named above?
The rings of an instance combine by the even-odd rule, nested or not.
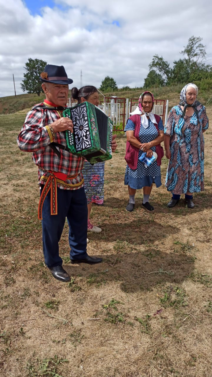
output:
[[[43,186],[41,186],[41,191]],[[70,259],[83,259],[88,254],[87,230],[88,207],[84,187],[78,190],[63,190],[57,187],[57,215],[51,215],[51,192],[43,203],[42,230],[43,254],[48,267],[62,265],[59,245],[66,217],[69,225]]]

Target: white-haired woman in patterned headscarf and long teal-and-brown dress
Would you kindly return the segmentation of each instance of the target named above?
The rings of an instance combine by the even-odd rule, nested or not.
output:
[[[188,208],[194,208],[193,193],[204,190],[204,137],[208,128],[205,107],[196,100],[198,87],[189,83],[180,93],[180,103],[172,107],[164,128],[164,147],[169,165],[166,187],[174,207],[185,194]]]

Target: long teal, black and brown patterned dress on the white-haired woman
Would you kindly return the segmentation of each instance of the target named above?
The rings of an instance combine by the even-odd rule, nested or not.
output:
[[[171,159],[166,173],[168,191],[180,195],[204,190],[204,137],[208,118],[203,105],[197,106],[198,116],[185,115],[181,106],[172,107],[164,127],[170,137]]]

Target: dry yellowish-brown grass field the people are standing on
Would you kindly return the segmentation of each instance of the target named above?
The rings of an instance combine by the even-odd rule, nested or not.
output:
[[[207,107],[212,121],[212,106]],[[212,377],[212,132],[205,135],[205,190],[173,209],[164,185],[154,213],[125,210],[126,138],[106,163],[105,201],[93,206],[88,253],[69,263],[71,281],[43,263],[37,168],[17,134],[26,110],[0,115],[0,375],[3,377]],[[161,172],[165,180],[163,159]]]

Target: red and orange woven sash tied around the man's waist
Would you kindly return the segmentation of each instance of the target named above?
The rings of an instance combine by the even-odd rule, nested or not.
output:
[[[59,173],[59,172],[51,172],[48,170],[50,175],[48,176],[48,179],[43,187],[43,191],[40,196],[40,201],[38,204],[38,219],[42,220],[42,208],[43,208],[43,202],[45,201],[46,195],[48,194],[49,190],[51,190],[51,215],[57,215],[57,179],[60,181],[66,181],[66,178],[68,179],[74,179],[77,178],[78,173],[75,175],[68,176],[67,174]],[[45,176],[42,176],[41,179],[46,179]],[[72,185],[73,187],[79,186],[83,183],[83,180],[76,184]]]

